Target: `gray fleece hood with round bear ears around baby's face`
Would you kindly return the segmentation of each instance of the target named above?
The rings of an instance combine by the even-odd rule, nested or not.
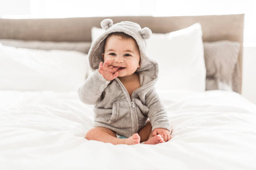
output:
[[[100,62],[104,62],[102,53],[104,53],[105,38],[112,32],[124,32],[136,40],[140,50],[141,63],[136,72],[139,74],[141,85],[157,79],[158,63],[146,55],[146,39],[152,36],[149,28],[141,29],[140,25],[131,21],[121,21],[113,25],[113,20],[111,19],[102,20],[100,25],[105,31],[92,43],[88,52],[88,60],[92,71],[99,68]]]

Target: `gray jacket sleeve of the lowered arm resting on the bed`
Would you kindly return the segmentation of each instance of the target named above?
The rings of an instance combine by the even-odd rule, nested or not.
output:
[[[156,93],[155,88],[150,90],[146,96],[146,105],[149,108],[148,118],[152,125],[152,131],[155,128],[164,128],[171,130],[167,112],[165,110],[164,104],[161,102],[159,95]]]

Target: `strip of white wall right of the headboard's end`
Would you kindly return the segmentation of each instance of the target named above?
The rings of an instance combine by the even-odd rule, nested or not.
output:
[[[242,95],[256,104],[256,47],[243,47]]]

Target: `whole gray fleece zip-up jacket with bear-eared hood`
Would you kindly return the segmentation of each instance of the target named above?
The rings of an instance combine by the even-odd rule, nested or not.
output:
[[[149,118],[152,130],[165,128],[171,130],[165,107],[156,93],[154,85],[158,79],[158,63],[150,59],[146,51],[146,40],[151,37],[149,28],[141,29],[140,25],[130,21],[122,21],[113,25],[111,19],[101,22],[105,32],[93,43],[88,53],[88,60],[93,74],[79,87],[80,100],[94,107],[94,126],[105,127],[115,133],[130,137],[138,133]],[[131,98],[123,83],[117,78],[108,81],[98,71],[104,53],[104,40],[111,32],[124,32],[137,42],[141,67],[136,72],[141,87],[134,90]]]

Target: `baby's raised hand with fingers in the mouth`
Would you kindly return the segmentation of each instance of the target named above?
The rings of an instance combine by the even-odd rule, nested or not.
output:
[[[113,79],[115,79],[116,77],[118,77],[118,68],[119,67],[113,67],[112,65],[108,66],[109,61],[106,60],[103,65],[102,62],[100,62],[99,65],[99,72],[101,75],[103,75],[103,77],[108,80],[111,81]]]

